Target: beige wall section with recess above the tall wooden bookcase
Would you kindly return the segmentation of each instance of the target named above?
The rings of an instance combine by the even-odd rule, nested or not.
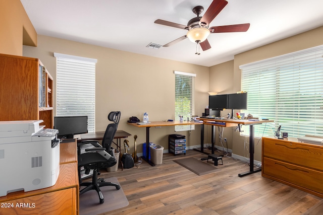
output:
[[[22,44],[37,46],[37,33],[20,0],[0,0],[0,53],[22,56]]]

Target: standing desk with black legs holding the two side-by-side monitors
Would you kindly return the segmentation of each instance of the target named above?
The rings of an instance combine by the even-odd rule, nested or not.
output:
[[[261,168],[256,170],[253,169],[253,154],[254,154],[254,125],[262,124],[267,122],[274,122],[274,120],[259,120],[259,121],[250,121],[250,120],[241,120],[241,119],[207,119],[207,118],[198,118],[199,120],[203,120],[203,125],[213,125],[213,126],[222,126],[222,127],[233,127],[237,126],[237,124],[249,125],[250,133],[249,133],[249,153],[250,153],[250,170],[244,173],[239,173],[239,177],[243,177],[255,172],[260,172]],[[225,123],[225,124],[214,124],[214,123]],[[213,136],[212,129],[212,136]],[[202,141],[203,140],[203,141]],[[203,151],[203,142],[204,142],[204,128],[201,128],[201,150]],[[212,149],[214,149],[214,142],[212,142]]]

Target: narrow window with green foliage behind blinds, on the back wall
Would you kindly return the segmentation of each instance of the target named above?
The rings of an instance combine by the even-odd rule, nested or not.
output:
[[[194,115],[194,77],[196,74],[174,71],[175,74],[175,120]],[[175,131],[193,130],[194,125],[177,125]]]

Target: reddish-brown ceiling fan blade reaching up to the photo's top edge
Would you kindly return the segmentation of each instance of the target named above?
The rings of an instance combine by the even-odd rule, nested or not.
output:
[[[201,26],[208,26],[216,16],[226,7],[228,4],[225,0],[213,0],[211,5],[208,7],[199,24]]]

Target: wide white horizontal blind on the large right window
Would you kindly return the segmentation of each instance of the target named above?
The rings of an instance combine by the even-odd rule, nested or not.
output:
[[[241,90],[248,92],[243,112],[275,120],[264,135],[274,135],[282,125],[288,136],[323,136],[323,46],[240,68]],[[255,126],[255,136],[262,136],[264,126]]]

